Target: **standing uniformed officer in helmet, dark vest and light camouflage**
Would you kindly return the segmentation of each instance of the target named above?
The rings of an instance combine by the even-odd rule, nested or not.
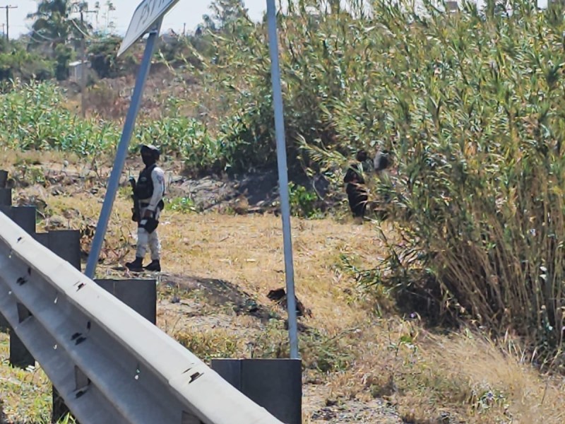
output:
[[[157,235],[157,225],[162,209],[165,207],[165,172],[157,166],[160,151],[152,145],[141,146],[141,158],[145,168],[140,172],[134,196],[138,202],[138,223],[136,259],[126,263],[131,271],[161,271],[161,244]],[[151,262],[143,266],[143,259],[149,246]]]

